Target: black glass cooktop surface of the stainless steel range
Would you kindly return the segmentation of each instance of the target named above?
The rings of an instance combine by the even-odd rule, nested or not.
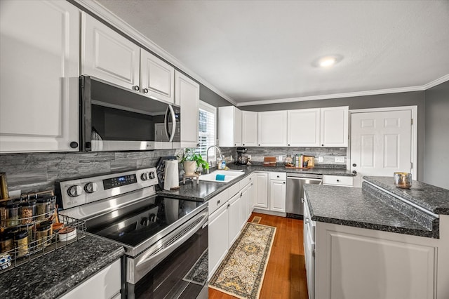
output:
[[[150,197],[131,206],[86,221],[87,231],[131,247],[154,237],[204,202]],[[177,227],[174,226],[173,230]]]

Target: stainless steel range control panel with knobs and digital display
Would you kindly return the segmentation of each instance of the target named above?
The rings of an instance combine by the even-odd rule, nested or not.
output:
[[[58,207],[67,209],[157,185],[156,168],[56,182]],[[154,187],[153,187],[154,189]]]

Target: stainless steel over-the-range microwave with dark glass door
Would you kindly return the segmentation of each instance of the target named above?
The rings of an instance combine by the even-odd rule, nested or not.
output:
[[[180,147],[180,107],[87,76],[80,88],[82,151]]]

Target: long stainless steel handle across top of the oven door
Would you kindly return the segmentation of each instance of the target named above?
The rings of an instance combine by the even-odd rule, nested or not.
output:
[[[133,268],[134,273],[130,273],[128,268],[127,280],[131,284],[135,284],[143,275],[151,271],[156,265],[158,265],[161,260],[166,258],[170,253],[175,251],[175,249],[184,243],[187,239],[192,237],[198,230],[206,225],[208,222],[208,212],[207,210],[199,213],[194,218],[181,225],[176,230],[171,232],[168,236],[164,237],[161,241],[157,242],[153,246],[143,252],[140,256],[134,259]],[[194,223],[196,223],[193,227]],[[187,232],[183,232],[189,227]],[[131,276],[129,275],[131,274]]]

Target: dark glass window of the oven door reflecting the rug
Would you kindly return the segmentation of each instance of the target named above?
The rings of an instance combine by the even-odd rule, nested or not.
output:
[[[137,284],[128,284],[128,298],[133,297],[130,292],[134,293],[134,298],[196,298],[208,284],[207,249],[206,226],[168,255]],[[192,268],[195,272],[194,279]],[[201,278],[205,279],[202,284]]]

